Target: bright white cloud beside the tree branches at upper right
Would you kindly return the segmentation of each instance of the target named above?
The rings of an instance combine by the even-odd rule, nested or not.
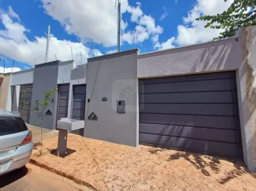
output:
[[[227,10],[233,0],[226,3],[223,0],[197,0],[197,4],[184,17],[184,24],[178,26],[176,43],[179,45],[193,44],[212,40],[217,37],[222,29],[204,28],[206,21],[195,21],[201,15],[216,15]]]

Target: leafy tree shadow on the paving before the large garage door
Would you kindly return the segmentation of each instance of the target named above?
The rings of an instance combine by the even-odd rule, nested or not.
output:
[[[164,148],[152,148],[148,151],[151,154],[158,154],[159,152],[167,151],[169,149]],[[175,160],[179,160],[183,158],[184,160],[190,162],[192,166],[202,172],[205,176],[211,176],[210,173],[219,174],[222,168],[221,161],[229,161],[233,163],[234,168],[229,170],[227,173],[223,174],[224,177],[221,177],[217,181],[221,184],[225,184],[231,179],[239,179],[239,176],[242,176],[243,174],[251,174],[256,179],[256,174],[251,173],[245,163],[242,161],[235,161],[230,160],[227,158],[222,157],[215,157],[215,156],[207,156],[202,154],[196,154],[191,152],[182,152],[182,151],[176,151],[175,154],[172,154],[167,159],[168,162],[172,162]],[[211,171],[209,171],[209,168]],[[222,176],[222,174],[221,174]]]

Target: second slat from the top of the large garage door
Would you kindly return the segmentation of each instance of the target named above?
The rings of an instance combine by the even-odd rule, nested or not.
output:
[[[232,92],[139,94],[141,103],[232,103]]]

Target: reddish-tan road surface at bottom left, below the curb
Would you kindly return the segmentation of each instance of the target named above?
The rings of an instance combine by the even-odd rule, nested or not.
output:
[[[92,190],[33,164],[27,164],[26,167],[2,175],[0,180],[1,191]]]

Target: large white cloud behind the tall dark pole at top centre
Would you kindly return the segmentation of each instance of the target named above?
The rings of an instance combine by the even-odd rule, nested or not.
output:
[[[102,43],[103,46],[117,45],[117,9],[113,0],[41,0],[42,7],[54,20],[59,21],[69,34],[75,34],[83,42],[93,41]],[[145,15],[141,3],[135,7],[129,5],[128,0],[121,0],[121,13],[129,12],[131,22],[136,22],[142,28],[124,30],[128,23],[121,20],[121,42],[133,42],[133,33],[137,42],[144,41],[151,34],[160,34],[163,29],[156,26],[155,20],[150,15]],[[143,30],[143,31],[142,31]],[[147,33],[147,34],[146,34]],[[143,36],[143,40],[141,36]]]

